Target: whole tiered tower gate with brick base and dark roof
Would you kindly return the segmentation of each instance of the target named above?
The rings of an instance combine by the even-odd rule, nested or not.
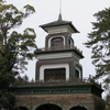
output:
[[[35,82],[14,85],[14,110],[105,110],[101,85],[82,78],[84,58],[72,37],[78,33],[70,21],[43,24],[45,47],[36,48]]]

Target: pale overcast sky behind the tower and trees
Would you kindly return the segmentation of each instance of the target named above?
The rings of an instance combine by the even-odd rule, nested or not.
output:
[[[16,31],[23,32],[25,28],[33,28],[36,32],[37,47],[45,46],[45,36],[47,35],[38,25],[52,21],[56,21],[59,14],[59,0],[7,0],[7,3],[13,3],[22,10],[23,6],[31,4],[35,8],[35,13],[24,20],[22,26]],[[73,34],[75,46],[77,46],[85,56],[80,59],[82,65],[84,77],[95,75],[95,66],[91,64],[91,50],[86,48],[82,43],[87,41],[87,34],[92,31],[90,22],[96,21],[94,14],[105,8],[110,7],[110,0],[62,0],[62,16],[63,20],[72,21],[75,28],[80,32]],[[30,79],[35,78],[35,62],[29,62],[26,74]]]

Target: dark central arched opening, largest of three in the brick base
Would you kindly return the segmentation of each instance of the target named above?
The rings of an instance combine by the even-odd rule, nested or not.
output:
[[[35,110],[62,110],[58,106],[55,105],[42,105],[38,108],[36,108]]]

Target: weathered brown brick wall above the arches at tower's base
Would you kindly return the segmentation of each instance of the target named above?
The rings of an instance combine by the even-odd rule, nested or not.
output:
[[[26,107],[29,110],[36,110],[42,105],[56,105],[62,110],[70,110],[77,106],[85,107],[87,110],[105,110],[103,100],[91,94],[18,95],[15,98],[15,108]]]

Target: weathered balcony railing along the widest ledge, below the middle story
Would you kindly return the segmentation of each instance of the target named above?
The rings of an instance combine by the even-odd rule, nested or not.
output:
[[[101,84],[99,84],[98,81],[96,81],[95,79],[92,78],[74,78],[74,79],[58,79],[58,80],[30,80],[30,81],[16,81],[13,86],[47,86],[47,85],[76,85],[76,84],[94,84],[98,87],[101,88]]]

